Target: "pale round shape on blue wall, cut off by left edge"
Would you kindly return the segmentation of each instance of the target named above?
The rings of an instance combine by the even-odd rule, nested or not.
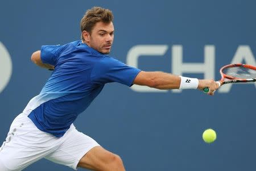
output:
[[[10,81],[13,65],[11,63],[11,56],[7,51],[5,45],[0,41],[0,93],[5,89]]]

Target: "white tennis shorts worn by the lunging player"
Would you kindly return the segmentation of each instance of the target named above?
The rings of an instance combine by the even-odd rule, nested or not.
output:
[[[82,156],[99,144],[77,131],[73,124],[62,137],[38,130],[25,114],[13,121],[0,148],[0,170],[22,170],[44,158],[77,170]]]

